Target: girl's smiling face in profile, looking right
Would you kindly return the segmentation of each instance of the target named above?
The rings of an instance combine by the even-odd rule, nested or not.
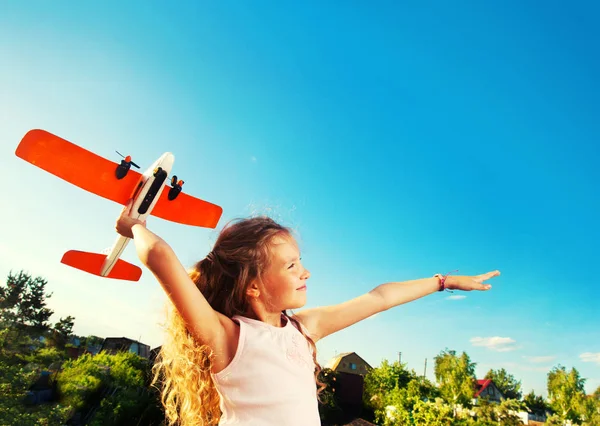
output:
[[[263,273],[263,302],[279,312],[306,304],[306,280],[310,272],[302,266],[296,241],[275,236],[270,244],[270,265]]]

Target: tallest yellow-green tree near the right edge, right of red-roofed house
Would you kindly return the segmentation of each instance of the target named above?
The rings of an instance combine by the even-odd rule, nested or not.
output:
[[[585,379],[575,368],[567,372],[559,365],[548,373],[548,400],[561,420],[579,421],[577,407],[585,397],[584,385]]]

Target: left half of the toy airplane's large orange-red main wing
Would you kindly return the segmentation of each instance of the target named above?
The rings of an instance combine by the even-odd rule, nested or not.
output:
[[[124,205],[141,176],[129,170],[127,176],[117,179],[117,163],[45,130],[27,132],[15,154],[73,185]]]

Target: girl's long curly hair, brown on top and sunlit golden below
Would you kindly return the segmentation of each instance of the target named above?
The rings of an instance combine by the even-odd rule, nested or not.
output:
[[[269,264],[269,244],[291,230],[268,217],[233,221],[219,234],[211,253],[189,271],[190,278],[210,306],[228,316],[245,315],[249,303],[246,290],[262,278]],[[153,367],[152,383],[162,385],[161,401],[167,425],[208,426],[219,423],[220,398],[211,377],[211,349],[195,340],[172,303],[168,303],[166,339]],[[315,363],[317,393],[325,387],[318,379],[315,342],[299,322],[282,312],[308,341]]]

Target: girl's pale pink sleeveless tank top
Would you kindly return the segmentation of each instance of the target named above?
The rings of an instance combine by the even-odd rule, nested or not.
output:
[[[291,321],[274,327],[234,316],[240,325],[231,363],[212,377],[221,397],[219,425],[319,426],[315,364]]]

